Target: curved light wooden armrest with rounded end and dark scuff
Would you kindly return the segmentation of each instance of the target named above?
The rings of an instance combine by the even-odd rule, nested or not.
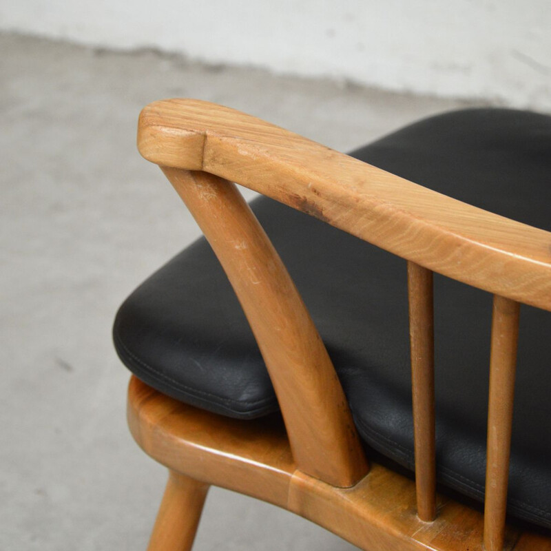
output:
[[[551,232],[205,101],[147,105],[138,148],[158,165],[227,178],[450,278],[551,310]]]

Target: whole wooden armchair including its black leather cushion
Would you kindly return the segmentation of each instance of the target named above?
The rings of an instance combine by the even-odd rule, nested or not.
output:
[[[522,145],[519,158],[510,136]],[[246,324],[229,287],[211,275],[216,269],[204,242],[163,267],[119,311],[116,348],[137,375],[129,386],[130,430],[170,473],[149,550],[191,548],[213,484],[287,508],[366,550],[551,550],[551,415],[550,400],[541,399],[551,391],[550,146],[550,117],[504,110],[433,118],[353,158],[211,103],[145,107],[139,150],[161,167],[196,218],[262,355],[243,352],[254,342],[240,332]],[[415,157],[417,147],[426,156]],[[364,162],[377,159],[389,171]],[[418,174],[433,189],[391,171]],[[533,189],[520,195],[536,194],[529,208],[518,198],[503,200],[512,189],[518,194],[510,182],[523,175],[517,186]],[[268,199],[253,206],[301,294],[231,182],[326,222]],[[496,197],[497,214],[458,200],[470,200],[461,182],[486,209]],[[507,210],[517,207],[519,216]],[[539,218],[523,218],[534,210]],[[295,250],[298,241],[302,249]],[[435,316],[433,272],[441,274]],[[396,285],[391,273],[399,273]],[[523,307],[517,391],[523,407],[528,401],[525,409],[533,400],[533,410],[514,429],[526,441],[515,448],[513,437],[515,493],[507,504],[519,303],[530,306]],[[331,308],[350,320],[331,319]],[[408,312],[410,355],[400,348],[400,335],[408,344]],[[333,334],[335,326],[342,327]],[[217,328],[218,336],[205,336]],[[440,351],[440,342],[456,341]],[[479,424],[486,405],[479,398],[488,373],[479,363],[490,355],[490,342],[483,492],[471,471],[484,470]],[[357,366],[372,349],[379,352],[369,365]],[[404,390],[409,357],[413,422]],[[532,364],[540,377],[535,386]],[[439,379],[441,369],[447,371]],[[227,388],[218,395],[217,385]],[[455,404],[456,395],[463,405]],[[450,435],[459,435],[457,444]],[[397,464],[415,464],[415,481]],[[525,481],[535,496],[523,490]],[[469,501],[483,493],[484,514]]]

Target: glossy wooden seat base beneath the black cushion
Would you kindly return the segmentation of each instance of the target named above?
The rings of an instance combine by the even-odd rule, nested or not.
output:
[[[296,468],[282,419],[229,419],[162,395],[132,377],[129,426],[156,461],[302,515],[366,551],[482,551],[481,512],[437,495],[438,514],[417,517],[415,482],[372,464],[352,488]],[[551,538],[508,528],[504,550],[551,551]]]

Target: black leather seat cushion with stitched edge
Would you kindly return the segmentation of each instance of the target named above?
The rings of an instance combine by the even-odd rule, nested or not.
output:
[[[441,193],[551,231],[551,117],[466,110],[353,153]],[[406,263],[262,198],[253,205],[287,264],[344,386],[360,435],[413,468]],[[292,238],[291,238],[292,236]],[[435,275],[441,482],[484,495],[492,297]],[[121,306],[116,349],[142,380],[232,417],[277,408],[245,316],[205,240]],[[551,313],[523,306],[509,510],[551,528]]]

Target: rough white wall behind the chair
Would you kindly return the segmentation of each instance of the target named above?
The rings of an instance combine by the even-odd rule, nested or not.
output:
[[[0,29],[551,110],[549,0],[26,0]]]

